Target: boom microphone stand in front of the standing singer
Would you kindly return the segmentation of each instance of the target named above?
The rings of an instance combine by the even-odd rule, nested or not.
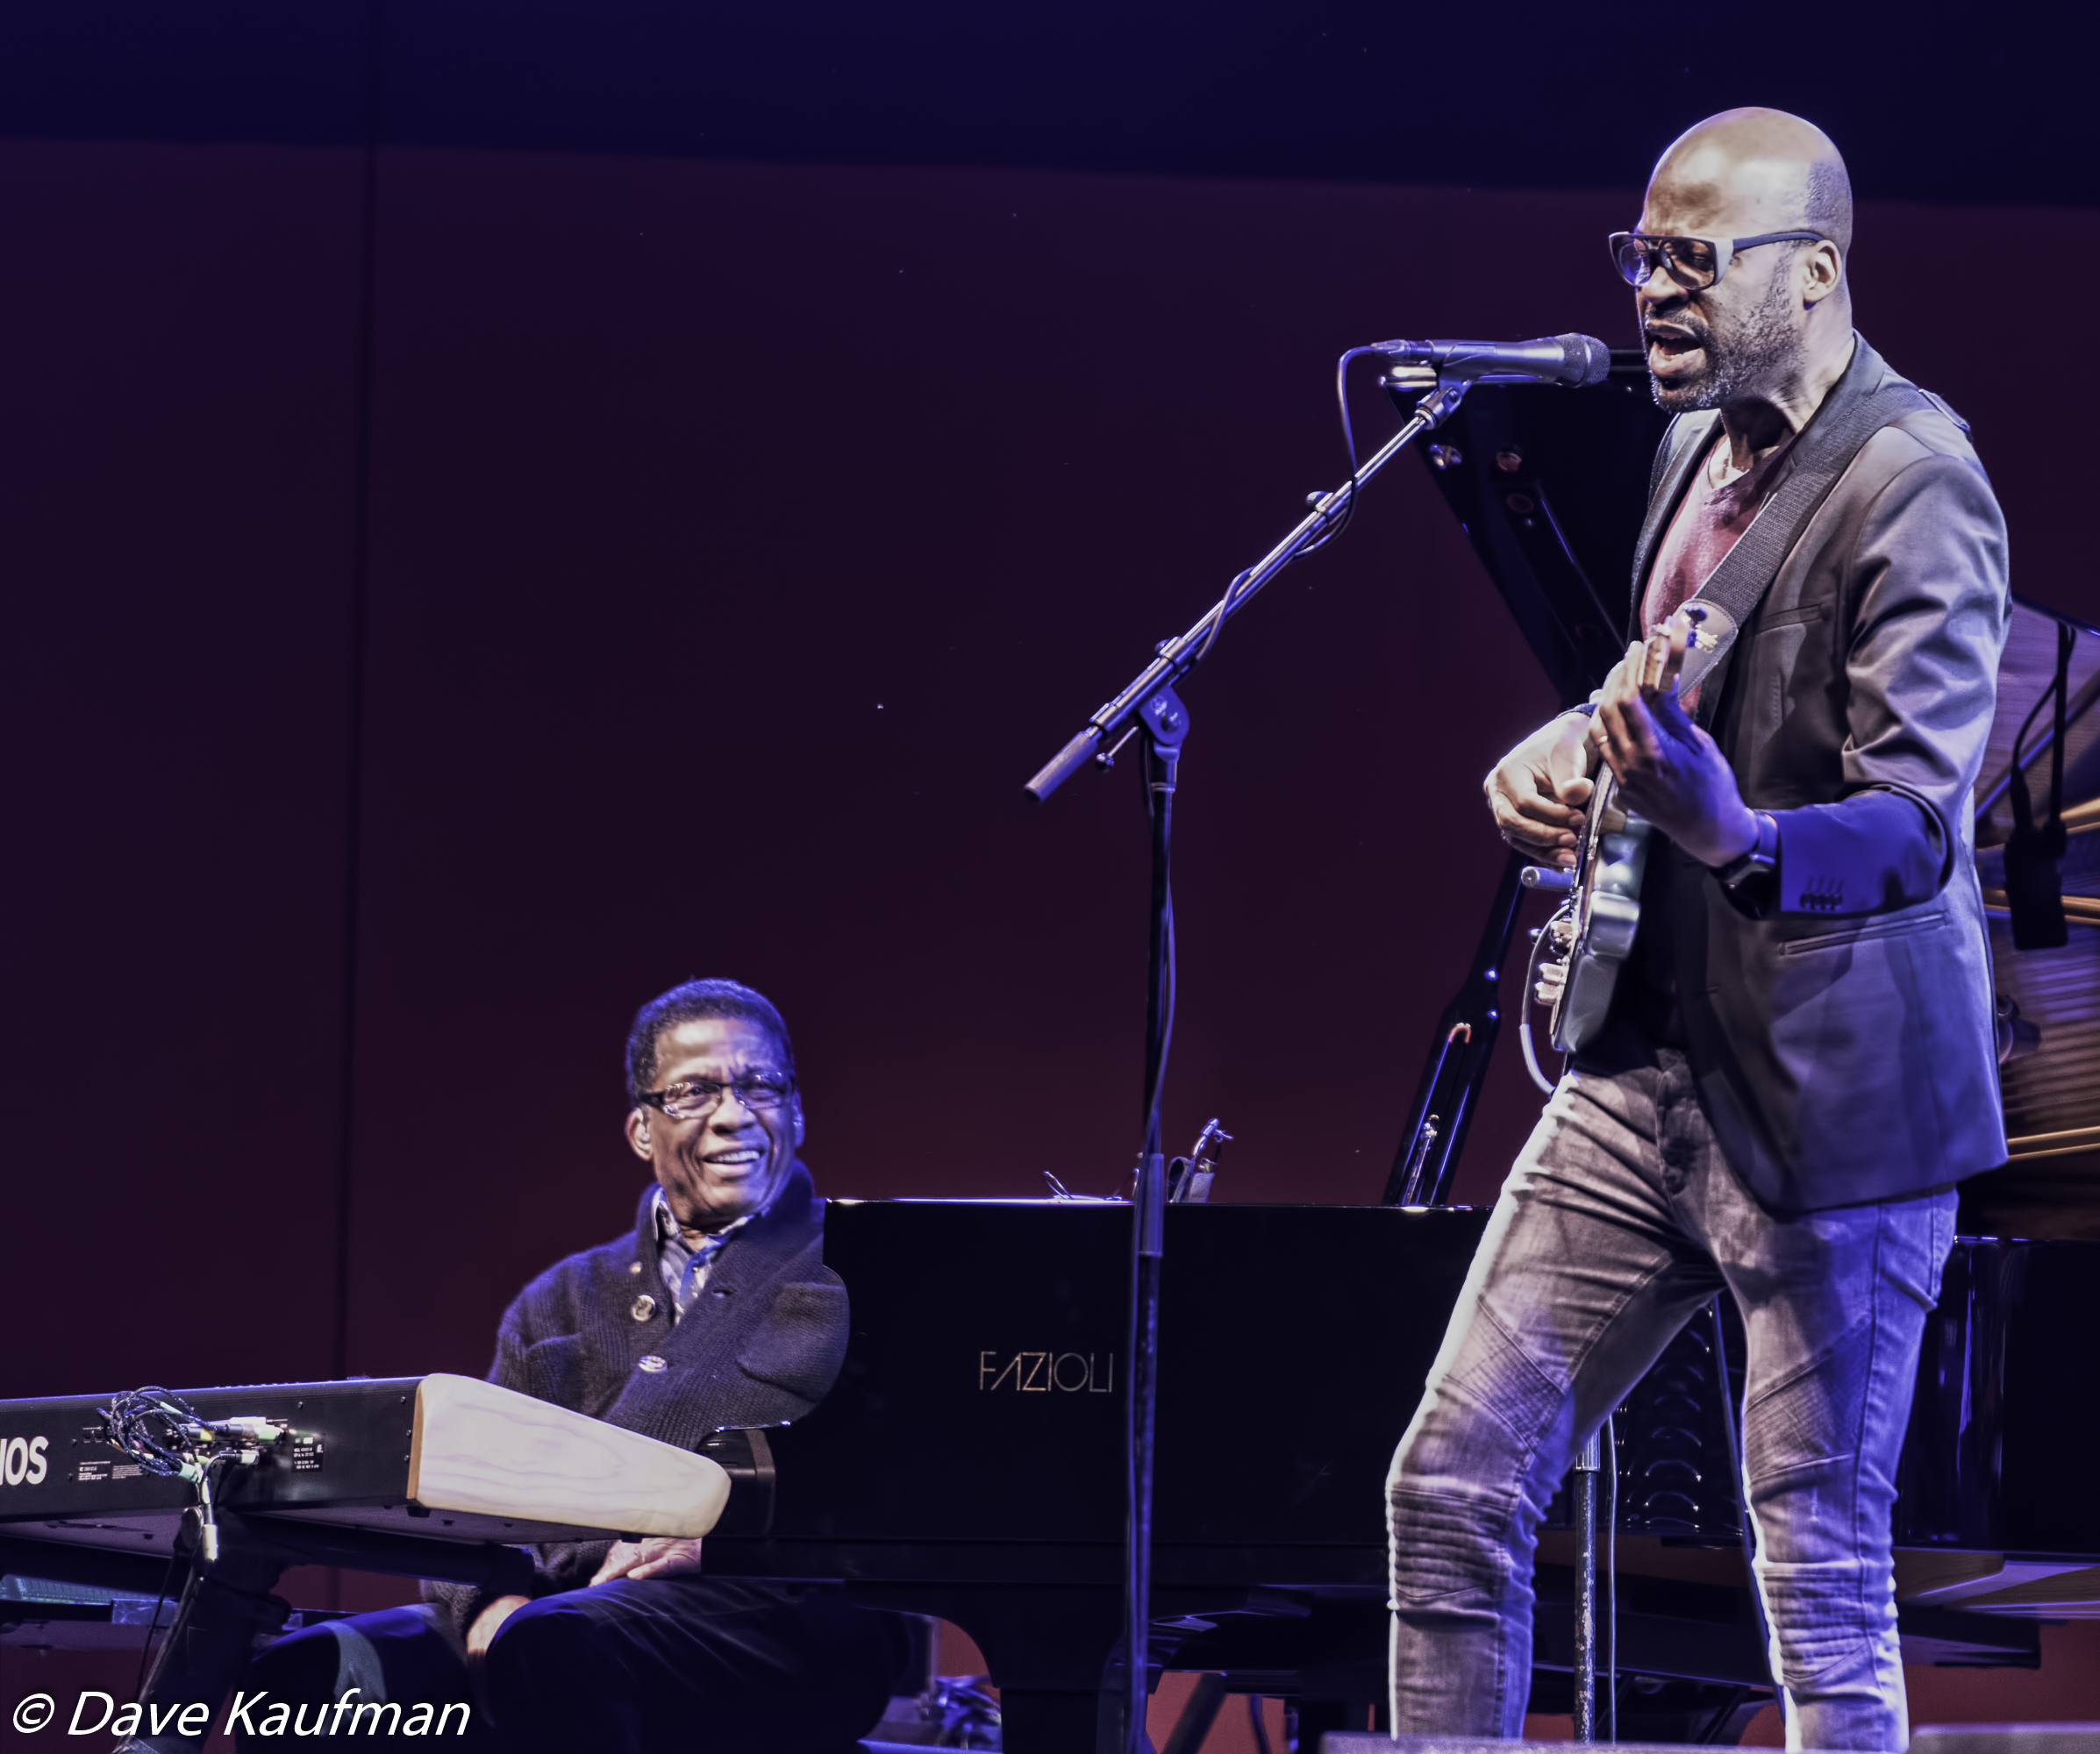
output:
[[[1256,565],[1226,586],[1195,626],[1159,645],[1157,655],[1119,695],[1107,702],[1050,763],[1029,779],[1027,790],[1048,798],[1092,756],[1111,767],[1134,735],[1144,737],[1144,802],[1151,817],[1153,895],[1151,968],[1144,1002],[1144,1147],[1138,1153],[1138,1183],[1130,1212],[1130,1330],[1128,1382],[1124,1401],[1126,1439],[1126,1550],[1124,1550],[1124,1722],[1126,1754],[1142,1754],[1149,1672],[1151,1582],[1153,1582],[1153,1439],[1159,1412],[1159,1269],[1166,1227],[1166,1157],[1159,1151],[1159,1092],[1166,1084],[1168,1044],[1174,1036],[1174,891],[1170,855],[1174,830],[1174,786],[1180,746],[1189,735],[1189,708],[1174,685],[1210,655],[1224,624],[1283,567],[1331,538],[1363,483],[1378,475],[1413,439],[1434,431],[1457,410],[1470,378],[1441,376],[1432,366],[1396,366],[1384,382],[1422,391],[1413,416],[1363,466],[1331,494],[1312,496],[1312,508]]]

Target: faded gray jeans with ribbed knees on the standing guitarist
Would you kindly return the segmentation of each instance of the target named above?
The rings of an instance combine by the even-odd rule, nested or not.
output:
[[[1789,1748],[1900,1750],[1890,1506],[1955,1195],[1764,1212],[1684,1057],[1571,1071],[1510,1170],[1392,1458],[1392,1729],[1518,1735],[1539,1517],[1722,1286]]]

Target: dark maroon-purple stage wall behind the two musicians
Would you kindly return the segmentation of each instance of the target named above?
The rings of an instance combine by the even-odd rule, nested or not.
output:
[[[1134,781],[1021,779],[1336,479],[1340,347],[1630,328],[1630,193],[384,153],[346,1004],[359,155],[0,191],[10,1395],[330,1372],[346,1124],[344,1365],[479,1370],[626,1223],[622,1029],[695,973],[785,1008],[827,1193],[1117,1185]],[[1861,321],[2100,615],[2077,447],[1949,271],[1999,223],[1869,208]],[[1170,1139],[1373,1199],[1544,681],[1403,460],[1186,693]]]

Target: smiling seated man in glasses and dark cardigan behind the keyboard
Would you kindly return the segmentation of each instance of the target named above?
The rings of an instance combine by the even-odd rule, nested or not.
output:
[[[808,1414],[846,1353],[823,1267],[788,1025],[735,981],[687,981],[628,1036],[626,1136],[653,1172],[634,1229],[571,1254],[502,1317],[489,1380],[695,1447]],[[267,1647],[271,1699],[472,1699],[496,1746],[548,1754],[840,1750],[907,1662],[897,1620],[825,1588],[712,1580],[697,1540],[533,1548],[533,1594],[424,1584]]]

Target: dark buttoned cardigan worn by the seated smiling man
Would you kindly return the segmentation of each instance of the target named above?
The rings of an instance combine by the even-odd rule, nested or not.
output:
[[[823,1265],[823,1202],[796,1164],[779,1197],[708,1269],[706,1290],[672,1325],[657,1277],[655,1185],[634,1231],[548,1267],[504,1311],[489,1382],[638,1431],[680,1449],[720,1426],[808,1414],[846,1357],[846,1286]],[[643,1298],[649,1307],[643,1307]],[[640,1315],[636,1315],[640,1311]],[[662,1370],[643,1370],[645,1357]],[[536,1546],[536,1594],[575,1590],[609,1542]],[[764,1584],[724,1590],[777,1599]],[[468,1584],[426,1582],[458,1630],[487,1601]]]

